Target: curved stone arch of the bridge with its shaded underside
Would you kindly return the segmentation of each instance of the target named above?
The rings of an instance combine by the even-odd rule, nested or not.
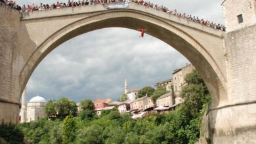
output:
[[[25,20],[24,22],[29,23],[28,21]],[[26,24],[24,26],[26,26]],[[22,67],[22,71],[20,71],[20,94],[22,94],[28,79],[41,60],[65,41],[96,29],[106,27],[138,29],[140,26],[146,27],[146,29],[148,29],[146,33],[149,35],[160,39],[181,52],[202,75],[213,98],[213,105],[217,106],[220,104],[219,100],[223,99],[220,97],[226,96],[226,78],[219,63],[216,62],[213,54],[211,54],[211,51],[207,48],[207,45],[202,43],[203,35],[209,35],[209,33],[200,29],[193,29],[197,31],[196,35],[202,34],[202,36],[200,36],[202,39],[198,39],[198,37],[191,35],[188,31],[172,22],[168,22],[164,18],[131,9],[98,12],[91,16],[74,20],[74,22],[64,27],[60,27],[58,31],[51,33],[46,39],[43,39],[42,43],[39,45],[37,41],[33,40],[37,46]],[[40,27],[38,28],[40,29]],[[223,45],[222,37],[213,34],[210,35],[211,38],[218,39],[219,43]]]

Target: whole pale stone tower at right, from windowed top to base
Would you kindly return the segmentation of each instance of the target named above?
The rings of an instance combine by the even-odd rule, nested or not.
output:
[[[211,143],[256,143],[256,0],[222,3],[226,33],[224,107],[207,115]]]

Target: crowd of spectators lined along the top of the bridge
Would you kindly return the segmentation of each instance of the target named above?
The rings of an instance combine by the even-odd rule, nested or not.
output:
[[[221,24],[216,24],[214,22],[210,22],[209,20],[203,20],[198,18],[198,16],[192,16],[191,14],[181,13],[175,10],[169,10],[167,7],[163,7],[162,5],[154,5],[153,3],[146,2],[143,0],[79,0],[79,1],[73,1],[68,0],[68,3],[59,3],[58,1],[53,4],[43,4],[41,3],[39,6],[37,5],[23,5],[20,7],[20,5],[16,4],[15,1],[12,0],[0,0],[6,5],[9,5],[10,7],[20,10],[21,12],[29,12],[33,10],[50,10],[50,9],[63,9],[65,7],[79,7],[79,6],[85,6],[85,5],[96,5],[96,4],[104,4],[104,3],[114,3],[117,1],[127,1],[127,2],[133,2],[137,3],[139,5],[144,5],[145,7],[151,7],[152,9],[161,10],[163,12],[167,12],[167,14],[172,14],[174,16],[178,16],[179,18],[184,18],[186,20],[190,20],[192,22],[196,22],[199,24],[203,24],[204,26],[212,27],[214,29],[218,29],[221,31],[226,31],[226,27]]]

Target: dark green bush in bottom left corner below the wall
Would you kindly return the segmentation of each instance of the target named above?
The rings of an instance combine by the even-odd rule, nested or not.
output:
[[[23,143],[24,134],[14,124],[2,122],[0,124],[0,138],[5,139],[7,143],[20,144]]]

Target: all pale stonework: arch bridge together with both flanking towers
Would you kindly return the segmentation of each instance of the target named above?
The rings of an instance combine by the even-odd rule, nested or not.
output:
[[[135,3],[129,9],[89,5],[21,16],[0,2],[0,120],[18,123],[20,96],[30,75],[58,45],[95,29],[137,29],[139,24],[181,52],[202,75],[213,98],[202,139],[256,143],[255,5],[255,0],[224,1],[228,33],[223,33]],[[238,24],[240,14],[244,22]]]

